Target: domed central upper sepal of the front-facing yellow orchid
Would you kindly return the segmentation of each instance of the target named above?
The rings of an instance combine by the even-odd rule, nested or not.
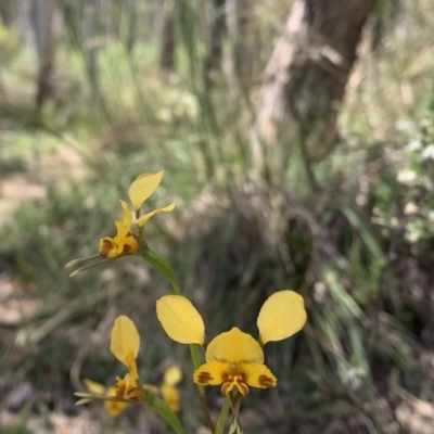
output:
[[[206,348],[206,361],[263,363],[264,353],[260,345],[250,334],[234,327],[221,333]]]

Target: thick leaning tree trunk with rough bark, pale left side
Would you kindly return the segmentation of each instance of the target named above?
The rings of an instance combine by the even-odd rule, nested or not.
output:
[[[378,0],[295,0],[265,69],[252,131],[256,166],[273,145],[289,154],[297,138],[305,157],[333,148],[343,100],[363,26]]]

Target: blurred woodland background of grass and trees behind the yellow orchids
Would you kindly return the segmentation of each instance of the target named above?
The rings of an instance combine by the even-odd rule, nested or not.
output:
[[[180,418],[206,432],[188,348],[155,318],[168,283],[140,258],[64,269],[161,169],[146,204],[177,208],[146,242],[208,339],[255,335],[275,291],[306,301],[305,329],[266,347],[279,385],[251,391],[245,433],[433,432],[431,0],[1,0],[0,16],[1,433],[170,432],[74,407],[80,379],[124,373],[120,314],[143,381],[181,365]]]

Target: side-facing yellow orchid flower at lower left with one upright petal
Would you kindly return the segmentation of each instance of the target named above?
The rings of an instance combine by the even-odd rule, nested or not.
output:
[[[112,329],[110,350],[128,368],[128,373],[116,378],[116,396],[127,400],[143,400],[143,395],[138,386],[136,357],[140,348],[140,336],[135,323],[126,316],[116,318]]]

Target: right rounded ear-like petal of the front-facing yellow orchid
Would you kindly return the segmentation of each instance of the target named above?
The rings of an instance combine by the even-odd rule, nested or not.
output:
[[[302,330],[306,310],[301,295],[294,291],[279,291],[263,305],[258,318],[259,342],[281,341]]]

